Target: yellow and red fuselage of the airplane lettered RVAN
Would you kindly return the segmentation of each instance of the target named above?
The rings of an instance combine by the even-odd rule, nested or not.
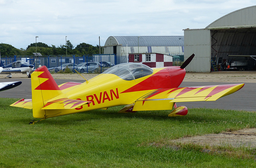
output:
[[[60,99],[68,97],[69,99],[90,101],[91,103],[74,110],[45,110],[46,116],[66,115],[132,104],[140,97],[158,88],[178,87],[182,83],[185,73],[186,71],[179,67],[154,68],[151,75],[130,81],[121,79],[114,74],[102,73],[88,80],[88,82],[64,89],[63,93],[58,95]],[[58,97],[54,97],[54,99],[58,99]]]

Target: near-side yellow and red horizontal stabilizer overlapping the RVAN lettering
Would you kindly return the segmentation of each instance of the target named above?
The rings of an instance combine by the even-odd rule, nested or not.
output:
[[[46,103],[42,110],[57,110],[57,109],[76,109],[82,105],[91,103],[90,101],[82,101],[76,99],[57,99]]]

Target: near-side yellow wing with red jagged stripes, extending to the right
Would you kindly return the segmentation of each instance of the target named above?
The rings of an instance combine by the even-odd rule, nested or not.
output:
[[[133,111],[168,110],[176,102],[216,101],[241,89],[242,84],[156,89],[135,101]],[[157,109],[155,108],[157,107]]]

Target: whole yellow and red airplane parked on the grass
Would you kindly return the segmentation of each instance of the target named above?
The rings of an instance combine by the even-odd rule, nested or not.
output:
[[[107,109],[126,105],[120,113],[172,110],[168,116],[186,115],[185,106],[176,102],[215,101],[241,89],[244,84],[179,87],[190,63],[182,66],[150,68],[141,63],[123,63],[111,67],[84,83],[57,85],[45,66],[31,74],[32,99],[21,99],[11,106],[33,109],[30,124],[50,117]]]

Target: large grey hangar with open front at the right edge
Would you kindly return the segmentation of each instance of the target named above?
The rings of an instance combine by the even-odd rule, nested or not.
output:
[[[185,29],[184,59],[195,54],[186,71],[210,72],[230,67],[255,70],[255,16],[256,6],[250,6],[231,12],[206,28]]]

